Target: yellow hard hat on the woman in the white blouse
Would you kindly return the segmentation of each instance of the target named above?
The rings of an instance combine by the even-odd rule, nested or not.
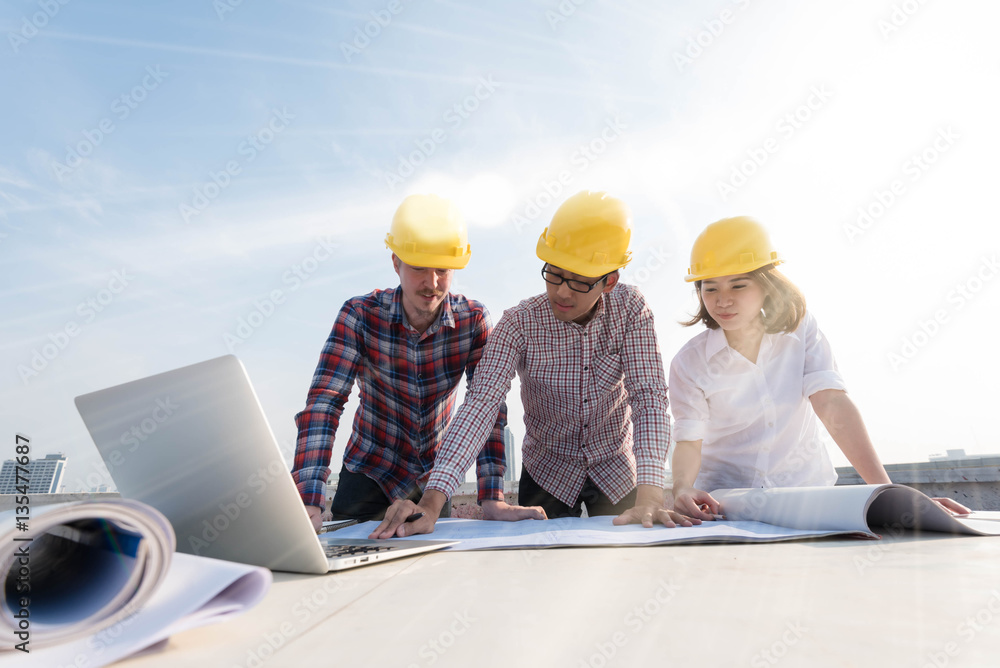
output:
[[[705,228],[691,248],[687,282],[745,274],[784,260],[771,245],[764,226],[753,218],[723,218]]]

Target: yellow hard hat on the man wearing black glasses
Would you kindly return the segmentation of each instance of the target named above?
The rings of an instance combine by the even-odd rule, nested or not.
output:
[[[582,190],[563,202],[538,238],[538,259],[595,278],[621,269],[632,259],[632,212],[604,192]]]

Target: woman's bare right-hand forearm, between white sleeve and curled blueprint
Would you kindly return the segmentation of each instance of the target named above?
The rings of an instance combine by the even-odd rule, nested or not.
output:
[[[892,482],[865,428],[861,412],[842,390],[822,390],[809,397],[831,438],[869,485]]]

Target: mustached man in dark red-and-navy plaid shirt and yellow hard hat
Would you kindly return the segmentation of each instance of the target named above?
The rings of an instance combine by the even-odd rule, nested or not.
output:
[[[399,287],[344,303],[320,355],[306,407],[295,416],[299,436],[292,478],[317,530],[333,438],[354,381],[361,403],[330,510],[334,519],[381,519],[393,500],[419,498],[451,419],[458,383],[464,373],[471,384],[490,334],[486,308],[449,292],[452,272],[464,268],[471,255],[454,204],[434,195],[406,198],[386,246],[393,251]],[[504,502],[506,424],[501,405],[477,448],[484,515],[544,517],[540,509]]]

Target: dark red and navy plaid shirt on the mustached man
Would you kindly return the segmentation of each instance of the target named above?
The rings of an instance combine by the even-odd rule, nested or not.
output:
[[[375,290],[349,299],[337,315],[306,407],[295,416],[292,479],[306,505],[325,506],[333,437],[355,380],[361,404],[344,464],[378,482],[389,499],[405,497],[426,480],[463,373],[471,385],[491,329],[486,308],[449,294],[440,320],[418,334],[406,321],[400,294],[399,288]],[[484,430],[485,447],[476,449],[480,501],[503,498],[506,424],[501,405]]]

